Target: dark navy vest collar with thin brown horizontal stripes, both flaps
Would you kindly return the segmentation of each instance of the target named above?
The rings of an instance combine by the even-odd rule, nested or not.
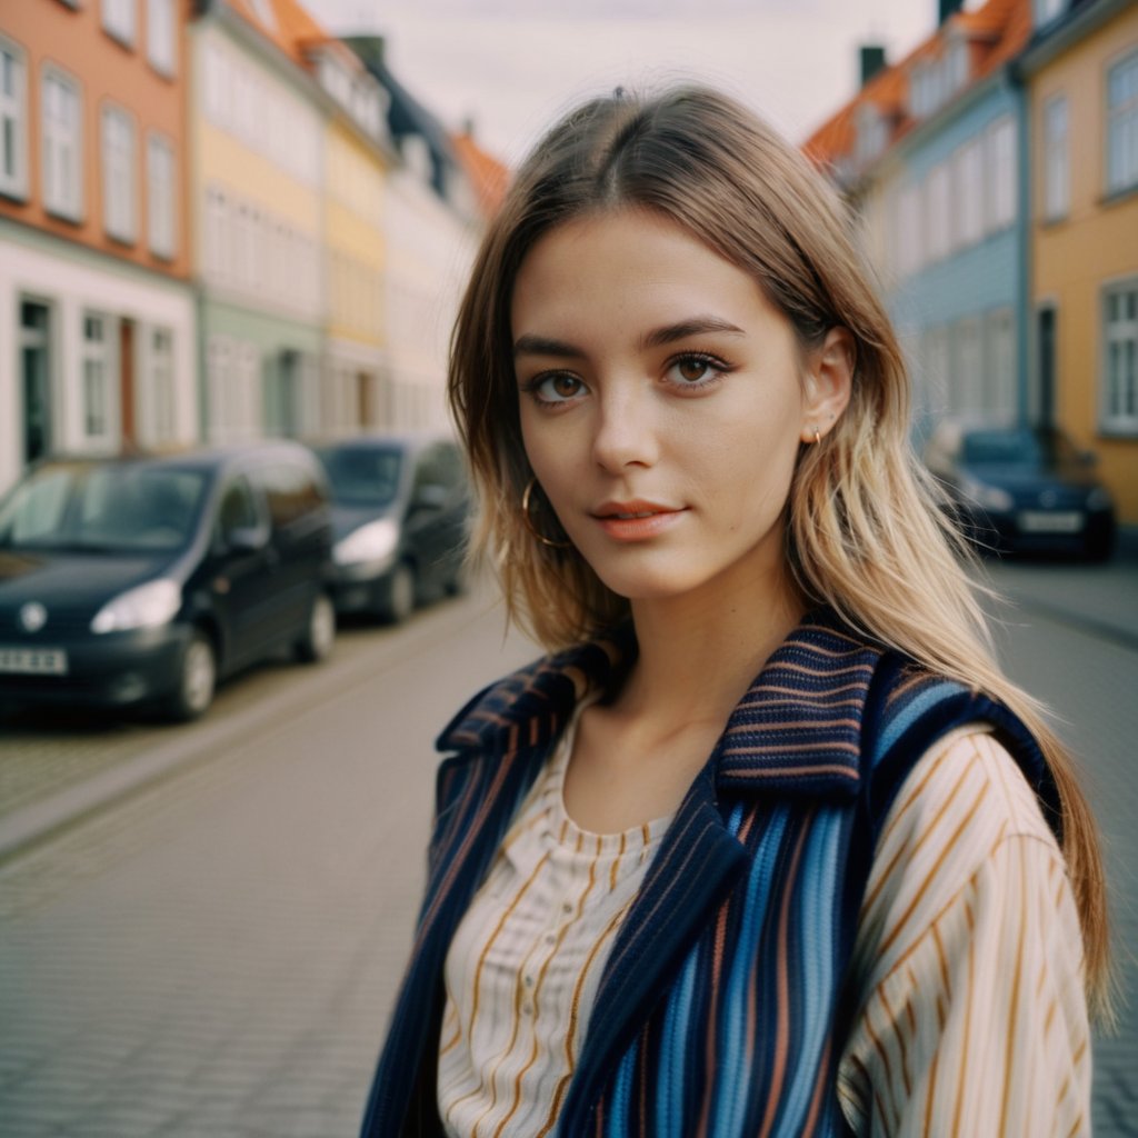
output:
[[[501,753],[556,737],[580,696],[611,688],[635,659],[630,626],[514,673],[467,704],[440,751]],[[881,650],[828,609],[808,613],[731,714],[714,758],[717,785],[849,798],[857,793],[861,716]]]

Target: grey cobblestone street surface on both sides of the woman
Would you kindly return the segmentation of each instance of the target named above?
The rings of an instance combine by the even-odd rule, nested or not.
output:
[[[1131,1005],[1136,570],[993,575],[1019,602],[1008,667],[1085,757]],[[432,736],[534,654],[476,596],[349,629],[325,668],[242,677],[190,728],[18,720],[0,739],[0,1135],[353,1135],[418,902]],[[1097,1045],[1106,1138],[1138,1133],[1135,1019]]]

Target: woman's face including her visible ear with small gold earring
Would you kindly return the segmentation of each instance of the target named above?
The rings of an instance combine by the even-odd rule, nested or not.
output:
[[[726,601],[732,584],[783,578],[798,448],[844,406],[846,341],[803,361],[747,273],[633,209],[534,246],[512,335],[530,465],[609,588]]]

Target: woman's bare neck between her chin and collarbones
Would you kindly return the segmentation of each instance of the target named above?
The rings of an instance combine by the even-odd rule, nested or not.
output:
[[[781,564],[726,596],[634,601],[638,657],[618,703],[661,726],[725,723],[805,608]]]

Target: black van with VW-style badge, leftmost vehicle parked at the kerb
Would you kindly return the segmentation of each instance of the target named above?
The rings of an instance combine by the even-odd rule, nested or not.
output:
[[[0,501],[0,702],[157,706],[331,651],[331,510],[305,447],[59,457]]]

